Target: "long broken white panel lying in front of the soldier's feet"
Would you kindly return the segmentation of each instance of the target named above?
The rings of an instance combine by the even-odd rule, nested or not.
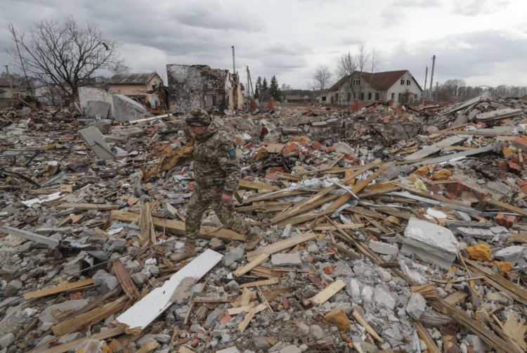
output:
[[[152,290],[115,320],[132,330],[144,330],[157,316],[171,306],[171,297],[185,278],[194,278],[194,281],[198,281],[216,266],[222,257],[223,255],[214,250],[205,250],[190,264],[173,274],[160,288]]]

